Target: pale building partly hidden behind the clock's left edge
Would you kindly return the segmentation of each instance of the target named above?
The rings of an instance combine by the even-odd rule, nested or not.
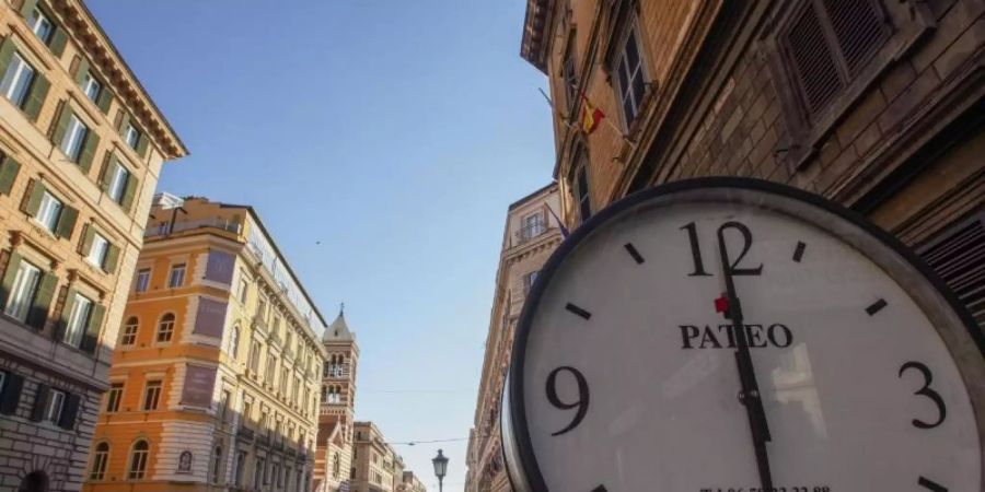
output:
[[[511,490],[499,437],[502,384],[526,293],[564,236],[556,218],[559,209],[558,187],[552,184],[510,204],[507,212],[475,423],[468,435],[465,492]]]

